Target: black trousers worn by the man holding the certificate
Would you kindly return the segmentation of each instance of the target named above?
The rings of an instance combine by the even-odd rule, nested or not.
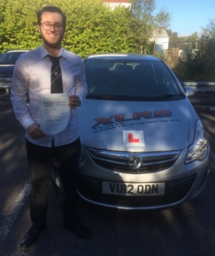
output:
[[[64,224],[78,221],[78,195],[75,172],[80,156],[80,138],[64,146],[37,146],[26,140],[27,157],[31,174],[30,213],[34,227],[46,225],[50,173],[55,160],[60,179],[60,203]]]

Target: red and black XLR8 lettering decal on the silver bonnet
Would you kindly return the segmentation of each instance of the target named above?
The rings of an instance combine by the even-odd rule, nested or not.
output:
[[[100,117],[100,118],[95,118],[94,120],[97,121],[97,124],[94,124],[91,129],[99,127],[99,125],[105,126],[105,125],[110,125],[110,124],[118,124],[122,122],[127,122],[127,121],[135,121],[135,120],[140,120],[141,118],[164,118],[164,117],[170,117],[172,116],[172,111],[170,110],[156,110],[154,113],[151,113],[150,111],[143,111],[143,112],[137,112],[133,113],[132,118],[124,118],[124,114],[116,115],[116,116],[110,116],[109,118],[105,117]]]

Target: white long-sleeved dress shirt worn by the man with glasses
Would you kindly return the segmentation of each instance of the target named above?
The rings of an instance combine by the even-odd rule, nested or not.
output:
[[[43,45],[35,50],[23,53],[15,64],[11,85],[11,102],[15,116],[20,124],[27,129],[39,121],[39,94],[50,94],[50,70],[52,62],[48,51]],[[82,103],[87,94],[87,85],[83,60],[80,56],[61,48],[60,65],[63,80],[63,90],[68,95],[78,95]],[[26,93],[29,93],[29,108],[26,106]],[[69,106],[68,106],[69,108]],[[55,146],[72,143],[80,136],[78,114],[76,108],[70,108],[70,118],[66,129],[57,135],[47,135],[45,138],[32,139],[28,132],[26,138],[39,146]]]

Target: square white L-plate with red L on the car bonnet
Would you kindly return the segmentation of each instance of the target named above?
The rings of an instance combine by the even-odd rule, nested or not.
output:
[[[123,131],[124,146],[145,146],[143,131]]]

